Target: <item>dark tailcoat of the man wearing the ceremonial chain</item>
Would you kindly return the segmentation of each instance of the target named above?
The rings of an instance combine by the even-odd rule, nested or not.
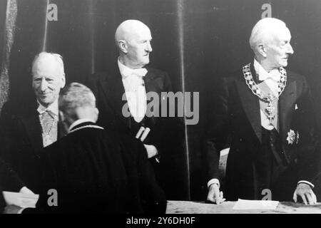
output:
[[[251,71],[255,76],[252,66]],[[220,150],[230,136],[225,196],[230,200],[249,197],[253,195],[254,157],[262,145],[259,98],[246,85],[242,71],[222,78],[217,90],[213,105],[215,110],[210,114],[210,128],[205,145],[208,180],[219,178]],[[275,189],[290,188],[292,193],[287,195],[291,198],[297,181],[312,182],[317,173],[315,161],[313,162],[318,141],[315,112],[310,89],[303,76],[287,71],[287,84],[278,100],[278,115],[282,149],[277,154],[280,170],[274,170],[280,172],[280,185]],[[290,130],[299,132],[298,144],[287,142]]]

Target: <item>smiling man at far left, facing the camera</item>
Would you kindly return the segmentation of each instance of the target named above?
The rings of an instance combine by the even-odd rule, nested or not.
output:
[[[35,97],[9,101],[0,118],[0,155],[31,190],[38,179],[34,164],[38,151],[63,135],[58,123],[58,94],[65,85],[62,57],[39,53],[32,63],[32,77]]]

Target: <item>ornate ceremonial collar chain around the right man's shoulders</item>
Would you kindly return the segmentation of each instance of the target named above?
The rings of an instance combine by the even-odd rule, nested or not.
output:
[[[250,71],[250,64],[251,63],[248,63],[248,65],[243,66],[243,75],[245,78],[245,82],[248,85],[248,88],[250,88],[252,93],[254,95],[257,95],[261,100],[265,100],[270,103],[272,100],[275,100],[275,98],[277,97],[272,93],[268,93],[267,95],[265,95],[265,93],[263,93],[263,91],[260,90],[260,88],[258,87],[258,84],[255,83],[255,81],[253,80],[253,76]],[[278,97],[282,94],[283,90],[285,89],[285,85],[287,83],[287,71],[285,71],[285,68],[282,68],[282,67],[280,67],[279,71],[281,73],[281,76],[280,76],[280,81],[278,81],[277,83]]]

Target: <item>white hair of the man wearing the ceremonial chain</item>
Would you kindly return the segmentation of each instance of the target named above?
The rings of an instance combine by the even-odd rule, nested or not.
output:
[[[250,47],[257,53],[258,44],[266,43],[266,41],[271,37],[272,33],[275,33],[277,29],[287,28],[286,24],[274,18],[265,18],[258,21],[257,24],[252,29],[250,36]]]

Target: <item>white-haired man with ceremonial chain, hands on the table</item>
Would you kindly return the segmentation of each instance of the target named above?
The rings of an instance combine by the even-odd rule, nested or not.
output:
[[[253,63],[218,83],[213,123],[206,138],[208,201],[223,202],[220,150],[231,136],[225,176],[228,200],[276,199],[317,202],[315,117],[303,76],[286,71],[293,53],[283,21],[262,19],[253,27]],[[294,193],[293,193],[294,192]]]

